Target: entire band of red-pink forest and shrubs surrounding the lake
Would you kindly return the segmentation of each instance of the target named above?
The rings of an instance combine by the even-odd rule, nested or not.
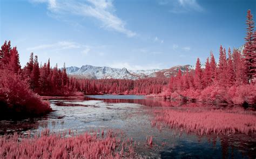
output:
[[[219,61],[210,53],[205,68],[199,58],[196,69],[177,70],[176,76],[145,79],[81,79],[66,74],[63,68],[40,64],[31,53],[22,68],[17,47],[5,41],[0,50],[1,112],[44,114],[51,111],[49,102],[40,96],[150,95],[169,99],[186,99],[214,103],[255,105],[256,103],[256,32],[251,11],[247,11],[244,50],[223,46]]]

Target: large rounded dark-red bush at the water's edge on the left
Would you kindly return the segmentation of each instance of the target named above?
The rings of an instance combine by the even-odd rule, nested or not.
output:
[[[2,115],[42,115],[50,103],[29,89],[25,80],[9,70],[0,70],[0,110]]]

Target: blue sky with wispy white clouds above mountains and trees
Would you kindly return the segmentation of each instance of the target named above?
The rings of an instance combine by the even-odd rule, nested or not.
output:
[[[51,66],[164,69],[245,43],[254,0],[1,0],[0,44]],[[254,18],[255,19],[255,18]]]

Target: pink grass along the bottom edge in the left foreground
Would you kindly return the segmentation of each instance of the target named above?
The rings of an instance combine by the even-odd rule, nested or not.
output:
[[[132,140],[120,131],[86,132],[75,135],[50,133],[45,129],[33,137],[0,136],[0,158],[121,158],[134,157]]]

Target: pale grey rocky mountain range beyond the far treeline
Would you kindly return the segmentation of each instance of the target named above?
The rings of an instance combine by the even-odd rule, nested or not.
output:
[[[92,79],[139,79],[147,77],[165,76],[170,77],[176,75],[179,69],[185,71],[186,68],[193,69],[190,65],[176,66],[170,69],[151,69],[151,70],[127,70],[126,68],[96,67],[85,65],[80,68],[68,67],[66,73],[76,77],[92,78]]]

